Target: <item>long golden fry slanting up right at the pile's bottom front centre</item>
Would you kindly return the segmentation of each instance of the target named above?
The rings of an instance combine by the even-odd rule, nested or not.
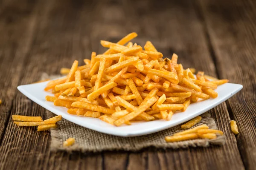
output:
[[[137,108],[136,111],[133,111],[120,119],[117,119],[114,122],[114,125],[120,126],[123,123],[130,121],[131,119],[134,119],[136,116],[140,115],[140,113],[143,113],[147,108],[149,108],[151,105],[153,105],[154,102],[156,102],[156,101],[157,101],[157,99],[155,97],[149,99],[145,105],[141,105],[139,108]]]

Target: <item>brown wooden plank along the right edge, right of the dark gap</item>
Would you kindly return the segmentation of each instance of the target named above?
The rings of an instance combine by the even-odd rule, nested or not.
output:
[[[215,51],[220,78],[244,86],[227,101],[230,118],[238,122],[236,136],[246,169],[256,166],[256,2],[200,1]]]

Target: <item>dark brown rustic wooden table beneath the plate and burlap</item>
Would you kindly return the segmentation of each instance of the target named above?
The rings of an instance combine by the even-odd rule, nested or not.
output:
[[[137,32],[185,68],[244,86],[210,113],[226,137],[222,147],[145,149],[92,154],[50,152],[49,131],[20,128],[12,114],[42,116],[45,109],[17,91],[43,72],[58,74],[74,59]],[[1,0],[0,169],[250,169],[256,167],[256,1],[254,0]],[[238,122],[240,133],[230,130]]]

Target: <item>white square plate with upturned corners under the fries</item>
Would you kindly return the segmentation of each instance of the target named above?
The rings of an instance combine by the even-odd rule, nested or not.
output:
[[[193,103],[189,105],[185,112],[175,113],[170,121],[155,120],[151,122],[133,122],[132,125],[116,127],[97,118],[70,115],[67,113],[67,108],[58,107],[53,105],[53,102],[45,101],[46,95],[52,95],[44,91],[46,84],[47,82],[41,82],[31,85],[20,85],[17,88],[21,93],[36,102],[38,105],[41,105],[52,113],[61,115],[64,119],[67,119],[70,122],[98,132],[124,137],[146,135],[179,125],[206,111],[209,111],[229,99],[243,88],[242,85],[232,83],[220,85],[215,90],[218,92],[218,97],[216,99],[201,100]]]

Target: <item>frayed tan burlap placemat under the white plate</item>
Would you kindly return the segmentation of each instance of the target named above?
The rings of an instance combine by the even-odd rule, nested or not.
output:
[[[47,74],[43,74],[42,79],[46,78],[49,78],[49,76],[47,77]],[[52,78],[52,76],[50,76],[50,78]],[[46,111],[46,113],[49,117],[55,116],[49,111]],[[215,120],[209,113],[204,113],[201,116],[202,120],[194,127],[205,124],[211,129],[217,129]],[[103,150],[138,151],[146,147],[177,149],[186,147],[208,147],[211,144],[222,145],[225,143],[223,136],[218,136],[217,139],[213,140],[195,139],[174,143],[167,143],[164,140],[165,136],[171,136],[180,131],[183,131],[183,129],[180,128],[180,125],[177,125],[149,135],[119,137],[96,132],[62,119],[58,122],[57,128],[51,129],[51,150],[81,151],[83,153],[100,152]],[[74,137],[76,143],[70,147],[63,147],[63,142],[70,137]]]

